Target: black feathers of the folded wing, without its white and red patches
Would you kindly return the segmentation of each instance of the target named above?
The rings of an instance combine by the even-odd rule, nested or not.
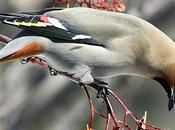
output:
[[[37,24],[38,22],[43,22],[41,20],[41,17],[43,15],[40,15],[40,14],[44,14],[47,11],[53,11],[53,10],[61,10],[61,9],[49,8],[38,12],[29,12],[29,13],[24,12],[19,14],[18,13],[0,14],[0,22],[4,24],[9,24],[11,26],[16,26],[24,30],[32,31],[33,33],[37,33],[45,37],[51,37],[55,39],[62,39],[66,41],[72,41],[72,42],[95,45],[95,46],[103,46],[97,43],[97,41],[92,37],[73,39],[73,37],[77,35],[85,35],[89,37],[90,35],[87,34],[86,32],[82,32],[78,27],[67,23],[67,21],[59,20],[59,22],[67,30],[64,30],[55,26],[33,26],[32,24],[30,26],[30,23]],[[20,25],[16,24],[15,22],[20,23]],[[26,23],[26,25],[24,23]],[[27,23],[29,23],[29,25],[27,25]]]

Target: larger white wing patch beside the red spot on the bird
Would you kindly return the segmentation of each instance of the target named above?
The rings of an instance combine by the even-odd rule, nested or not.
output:
[[[67,28],[64,27],[63,24],[61,24],[61,22],[60,22],[58,19],[48,17],[48,21],[49,21],[49,23],[51,23],[53,26],[67,31]]]

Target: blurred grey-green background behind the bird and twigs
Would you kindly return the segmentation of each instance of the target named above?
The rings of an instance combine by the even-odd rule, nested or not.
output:
[[[0,12],[33,11],[52,6],[52,0],[0,0]],[[126,13],[141,17],[175,40],[174,0],[125,0]],[[14,37],[20,29],[0,24],[0,33]],[[0,44],[2,48],[3,45]],[[162,61],[163,62],[163,61]],[[89,105],[79,86],[47,69],[20,61],[0,65],[0,130],[85,130]],[[106,79],[123,102],[139,118],[148,111],[148,122],[175,130],[175,110],[168,111],[163,88],[150,79],[118,76]],[[93,97],[96,92],[91,91]],[[105,114],[105,105],[95,99]],[[117,115],[121,108],[114,104]],[[105,120],[96,117],[95,129],[104,129]]]

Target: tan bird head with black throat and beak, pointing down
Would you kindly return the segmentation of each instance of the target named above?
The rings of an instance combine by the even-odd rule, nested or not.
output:
[[[175,43],[162,35],[156,44],[147,52],[147,63],[153,71],[151,78],[157,81],[166,91],[168,96],[168,109],[175,106]]]

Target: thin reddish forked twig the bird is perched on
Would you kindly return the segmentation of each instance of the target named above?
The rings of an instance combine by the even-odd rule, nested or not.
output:
[[[50,66],[49,66],[49,70],[50,70],[50,73],[52,74],[52,75],[62,75],[62,76],[65,76],[65,77],[67,77],[67,78],[69,78],[69,79],[71,79],[71,80],[73,80],[74,82],[76,82],[76,83],[79,83],[78,82],[78,79],[75,79],[74,77],[73,77],[73,75],[71,75],[71,74],[68,74],[67,72],[63,72],[63,71],[60,71],[60,70],[55,70],[55,69],[53,69],[53,68],[51,68]],[[95,110],[95,108],[94,108],[94,106],[93,106],[93,102],[92,102],[92,99],[91,99],[91,97],[90,97],[90,95],[89,95],[89,93],[88,93],[88,91],[87,91],[87,88],[86,88],[86,86],[89,86],[89,85],[85,85],[85,92],[86,92],[86,94],[87,94],[87,97],[88,97],[88,100],[89,100],[89,103],[90,103],[90,111],[91,111],[91,122],[90,122],[90,129],[92,130],[93,128],[94,128],[94,111],[96,111]],[[90,87],[92,87],[92,86],[90,86]],[[92,87],[93,88],[93,87]],[[122,102],[122,100],[119,98],[119,96],[116,94],[116,93],[114,93],[111,89],[109,89],[110,87],[107,87],[108,89],[108,93],[110,94],[110,95],[112,95],[118,102],[119,102],[119,104],[121,105],[121,107],[122,107],[122,109],[125,111],[125,117],[124,117],[124,121],[122,122],[122,121],[120,121],[117,117],[116,117],[116,115],[115,115],[115,113],[114,113],[114,111],[113,111],[113,108],[112,108],[112,105],[111,105],[111,103],[110,103],[110,101],[109,101],[109,99],[108,99],[108,95],[103,95],[103,100],[104,100],[104,102],[105,102],[105,104],[106,104],[106,108],[107,108],[107,116],[105,117],[105,116],[103,116],[103,117],[105,117],[106,118],[106,130],[109,130],[109,126],[110,126],[110,122],[111,122],[111,120],[113,120],[113,122],[114,122],[114,127],[113,127],[113,130],[122,130],[122,129],[124,129],[124,128],[126,128],[126,129],[128,129],[128,130],[133,130],[128,124],[126,124],[126,118],[128,117],[128,116],[130,116],[131,117],[131,119],[133,119],[134,120],[134,122],[136,123],[136,125],[138,126],[138,127],[140,127],[140,123],[143,125],[145,125],[146,126],[146,129],[147,128],[151,128],[151,129],[153,129],[153,130],[161,130],[160,128],[157,128],[157,127],[155,127],[155,126],[153,126],[153,125],[150,125],[150,124],[148,124],[148,123],[143,123],[143,122],[141,122],[140,120],[138,120],[137,119],[137,117],[126,107],[126,105]],[[102,115],[101,113],[99,114],[99,115]],[[122,129],[120,129],[120,126],[119,125],[122,125]],[[146,130],[145,129],[145,130]]]

